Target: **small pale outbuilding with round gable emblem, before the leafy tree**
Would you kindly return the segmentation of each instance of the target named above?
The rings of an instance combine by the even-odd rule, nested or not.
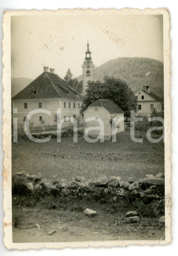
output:
[[[98,99],[90,106],[88,106],[84,113],[84,123],[85,129],[89,127],[98,127],[100,126],[99,120],[102,120],[104,124],[104,139],[110,140],[112,136],[112,118],[116,119],[116,122],[119,118],[124,117],[124,111],[114,102],[107,99]],[[92,118],[92,121],[87,121],[87,118]],[[124,120],[120,120],[116,126],[116,133],[124,131]],[[98,136],[101,130],[95,130],[94,128],[88,132],[88,135],[96,137]]]

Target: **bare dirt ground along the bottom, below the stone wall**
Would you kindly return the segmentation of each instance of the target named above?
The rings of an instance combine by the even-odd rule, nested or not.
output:
[[[87,205],[86,205],[87,206]],[[88,207],[88,206],[87,206]],[[97,207],[97,206],[96,206]],[[13,242],[82,242],[109,240],[160,240],[164,226],[158,218],[140,216],[139,223],[127,224],[120,213],[110,214],[103,208],[88,217],[82,211],[13,206]],[[55,230],[52,235],[47,232]]]

